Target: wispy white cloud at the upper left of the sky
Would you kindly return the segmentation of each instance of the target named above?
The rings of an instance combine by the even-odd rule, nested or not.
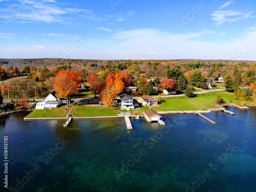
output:
[[[76,17],[99,20],[92,10],[67,8],[54,0],[41,2],[31,0],[18,0],[20,4],[12,4],[7,8],[0,8],[0,18],[6,22],[46,22],[46,23],[70,23]]]

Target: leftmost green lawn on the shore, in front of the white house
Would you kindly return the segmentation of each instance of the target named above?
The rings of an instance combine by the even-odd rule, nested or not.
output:
[[[60,106],[51,110],[34,110],[28,115],[28,118],[47,118],[47,117],[66,117],[72,106]],[[67,109],[67,111],[65,111]]]

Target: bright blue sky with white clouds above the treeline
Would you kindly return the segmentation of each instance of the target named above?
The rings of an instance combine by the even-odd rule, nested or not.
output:
[[[0,0],[0,58],[256,60],[256,1]]]

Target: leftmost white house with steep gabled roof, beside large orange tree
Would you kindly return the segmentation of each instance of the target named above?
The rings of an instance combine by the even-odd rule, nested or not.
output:
[[[56,92],[50,93],[44,101],[38,102],[35,105],[35,109],[51,109],[51,108],[57,108],[60,104],[67,104],[67,99],[58,99],[56,97]]]

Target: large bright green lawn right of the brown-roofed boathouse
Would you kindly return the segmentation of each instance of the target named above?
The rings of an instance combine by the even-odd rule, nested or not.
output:
[[[190,111],[217,108],[217,106],[215,105],[217,94],[220,94],[226,102],[233,102],[239,106],[243,106],[238,100],[234,99],[233,93],[221,91],[199,94],[197,95],[197,97],[194,98],[188,98],[186,96],[162,98],[162,102],[159,103],[160,106],[152,109],[156,111]]]

